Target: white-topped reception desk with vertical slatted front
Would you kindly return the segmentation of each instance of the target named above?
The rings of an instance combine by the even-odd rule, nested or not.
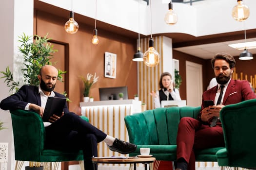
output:
[[[80,102],[81,114],[89,118],[91,124],[110,136],[129,141],[124,117],[141,112],[141,101],[112,100]],[[107,148],[104,142],[98,144],[98,156],[119,156]],[[127,155],[128,156],[128,155]]]

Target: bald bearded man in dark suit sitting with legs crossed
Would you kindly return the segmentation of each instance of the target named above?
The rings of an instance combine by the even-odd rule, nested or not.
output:
[[[38,75],[40,85],[23,85],[20,90],[3,99],[0,108],[3,110],[33,110],[40,116],[49,96],[65,98],[54,90],[58,78],[58,70],[50,65],[43,66]],[[98,142],[104,141],[111,151],[127,154],[134,152],[136,145],[108,136],[95,126],[81,119],[73,112],[69,112],[67,103],[63,114],[53,115],[50,122],[44,122],[46,131],[45,146],[56,150],[83,150],[84,168],[94,170],[91,158],[97,157]]]

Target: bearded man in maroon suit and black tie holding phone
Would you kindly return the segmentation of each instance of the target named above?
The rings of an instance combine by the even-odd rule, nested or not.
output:
[[[198,119],[180,119],[177,134],[177,169],[195,170],[194,149],[223,147],[224,137],[219,121],[222,107],[249,99],[255,99],[250,84],[245,80],[233,80],[231,75],[236,61],[228,53],[217,53],[211,60],[217,85],[202,96]],[[204,101],[214,101],[213,106],[204,106]]]

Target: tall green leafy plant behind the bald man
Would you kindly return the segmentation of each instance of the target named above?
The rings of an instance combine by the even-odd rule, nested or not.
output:
[[[24,85],[39,85],[39,69],[44,65],[52,65],[50,60],[53,58],[52,53],[57,50],[53,49],[53,45],[48,41],[50,39],[44,37],[40,37],[35,35],[34,42],[33,36],[27,36],[23,33],[23,35],[19,36],[21,45],[19,47],[19,51],[23,55],[24,59],[24,68],[20,70],[20,73],[23,74]],[[9,91],[17,92],[20,88],[20,82],[15,82],[13,78],[13,73],[10,71],[9,66],[5,69],[5,71],[0,71],[3,74],[0,78],[5,78],[4,82],[8,87],[10,87]],[[66,73],[66,71],[58,70],[58,80],[62,82],[62,74]],[[66,93],[63,93],[66,95]]]

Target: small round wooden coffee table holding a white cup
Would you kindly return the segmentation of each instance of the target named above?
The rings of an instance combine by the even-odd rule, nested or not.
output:
[[[138,158],[127,158],[127,159],[115,159],[115,158],[92,158],[94,164],[94,170],[99,163],[104,164],[134,164],[134,170],[136,170],[136,164],[144,164],[145,170],[148,169],[148,164],[153,163],[156,160],[155,157],[138,157]],[[150,170],[150,167],[149,167]]]

